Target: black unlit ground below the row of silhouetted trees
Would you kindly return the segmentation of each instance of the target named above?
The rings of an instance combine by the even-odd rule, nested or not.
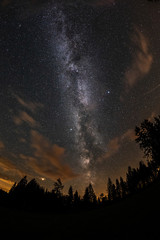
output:
[[[123,202],[72,214],[0,208],[0,233],[44,239],[160,239],[160,184]]]

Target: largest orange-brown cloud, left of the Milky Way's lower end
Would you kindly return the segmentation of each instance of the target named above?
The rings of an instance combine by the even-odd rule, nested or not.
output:
[[[65,149],[51,144],[34,130],[31,131],[31,147],[34,155],[29,157],[29,163],[36,173],[51,180],[59,177],[68,180],[77,176],[70,166],[64,163]]]

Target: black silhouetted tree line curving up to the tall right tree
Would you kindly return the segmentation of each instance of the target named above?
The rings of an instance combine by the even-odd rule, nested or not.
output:
[[[0,204],[38,211],[70,211],[105,206],[142,191],[160,179],[160,116],[155,117],[153,122],[144,120],[140,127],[135,128],[135,135],[147,163],[140,161],[137,168],[129,166],[125,180],[120,177],[113,183],[108,178],[107,194],[101,193],[97,197],[91,183],[82,197],[72,186],[68,194],[63,194],[64,185],[60,178],[54,182],[53,189],[48,191],[36,179],[28,182],[25,176],[14,183],[8,193],[0,190]]]

